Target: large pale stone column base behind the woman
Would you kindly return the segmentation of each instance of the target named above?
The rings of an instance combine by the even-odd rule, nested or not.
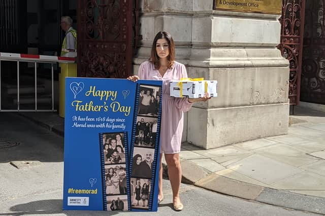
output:
[[[155,33],[168,31],[189,77],[218,80],[218,97],[188,112],[184,141],[209,149],[286,134],[289,68],[276,49],[279,16],[212,9],[213,0],[144,0],[135,70]]]

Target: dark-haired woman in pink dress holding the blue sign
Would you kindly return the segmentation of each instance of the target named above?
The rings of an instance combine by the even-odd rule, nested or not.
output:
[[[179,162],[183,132],[183,112],[187,112],[194,102],[206,101],[207,94],[203,98],[174,98],[170,97],[170,81],[187,78],[186,68],[175,61],[175,45],[170,33],[160,31],[156,34],[151,57],[143,62],[138,71],[138,76],[129,76],[127,79],[162,80],[163,98],[161,109],[160,128],[160,167],[159,167],[159,192],[158,203],[163,201],[163,167],[161,156],[165,154],[168,166],[168,176],[173,191],[173,206],[175,210],[182,210],[183,204],[179,198],[179,189],[182,178],[182,170]]]

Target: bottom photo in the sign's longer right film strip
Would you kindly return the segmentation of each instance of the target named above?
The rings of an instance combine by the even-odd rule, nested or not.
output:
[[[131,204],[134,208],[148,209],[151,189],[151,180],[131,178]]]

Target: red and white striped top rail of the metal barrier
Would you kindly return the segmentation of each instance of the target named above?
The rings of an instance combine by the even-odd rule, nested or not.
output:
[[[18,53],[0,53],[0,60],[22,60],[22,61],[38,61],[38,62],[58,62],[58,63],[75,63],[76,58],[59,57],[59,56],[43,56]]]

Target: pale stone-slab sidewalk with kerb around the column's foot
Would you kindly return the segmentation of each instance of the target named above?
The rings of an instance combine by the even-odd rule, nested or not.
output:
[[[325,214],[325,113],[296,108],[288,135],[203,150],[184,143],[183,181],[274,205]],[[63,136],[57,114],[22,113]]]

